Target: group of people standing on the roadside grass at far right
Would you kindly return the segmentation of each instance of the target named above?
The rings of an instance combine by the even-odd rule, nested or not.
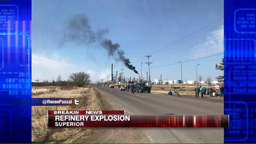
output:
[[[215,92],[215,90],[213,90],[213,88],[211,86],[209,86],[208,88],[208,94],[210,95],[210,97],[213,97],[213,92]],[[199,93],[201,94],[201,98],[204,98],[204,95],[206,95],[206,87],[202,87],[202,86],[198,86],[195,87],[195,98],[199,97]],[[220,88],[220,97],[224,97],[224,85],[221,86]]]

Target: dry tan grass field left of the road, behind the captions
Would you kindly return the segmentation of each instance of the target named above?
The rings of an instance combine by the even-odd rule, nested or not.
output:
[[[33,87],[33,98],[78,98],[78,106],[33,106],[32,142],[81,143],[99,132],[98,128],[49,128],[48,110],[102,110],[99,94],[93,88]]]

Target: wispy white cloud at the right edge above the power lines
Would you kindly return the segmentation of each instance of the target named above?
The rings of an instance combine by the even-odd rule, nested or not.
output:
[[[215,55],[224,52],[224,28],[210,32],[206,41],[197,44],[192,50],[192,58],[203,58],[204,56]]]

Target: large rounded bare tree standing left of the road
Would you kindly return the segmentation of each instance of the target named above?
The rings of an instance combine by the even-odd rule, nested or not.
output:
[[[70,74],[70,80],[72,80],[76,86],[84,86],[91,82],[90,80],[90,74],[79,72],[79,73],[72,73]]]

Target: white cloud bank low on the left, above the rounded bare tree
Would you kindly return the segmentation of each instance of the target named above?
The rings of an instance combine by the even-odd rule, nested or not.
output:
[[[61,74],[62,80],[67,80],[70,74],[79,71],[90,74],[92,82],[104,79],[104,77],[107,76],[109,76],[109,80],[111,80],[111,68],[99,71],[92,70],[85,65],[70,64],[56,53],[52,53],[51,55],[51,58],[49,58],[37,53],[32,53],[32,80],[49,80],[49,82],[52,82],[52,80],[56,80],[58,74]]]

